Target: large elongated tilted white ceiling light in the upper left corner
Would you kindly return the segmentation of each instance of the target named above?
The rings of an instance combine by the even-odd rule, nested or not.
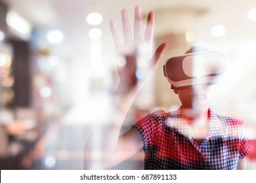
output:
[[[9,11],[6,18],[7,25],[23,39],[30,39],[32,25],[25,18],[14,11]]]

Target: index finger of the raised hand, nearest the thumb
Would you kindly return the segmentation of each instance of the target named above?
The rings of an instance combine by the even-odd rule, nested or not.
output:
[[[146,30],[145,30],[145,36],[144,36],[144,41],[149,42],[150,44],[152,44],[153,35],[154,35],[154,19],[155,19],[155,14],[154,12],[150,11],[148,13],[148,20],[146,22]]]

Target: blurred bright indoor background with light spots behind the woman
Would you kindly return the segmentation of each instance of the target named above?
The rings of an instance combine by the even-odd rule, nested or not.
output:
[[[118,84],[109,21],[121,32],[121,9],[156,14],[155,39],[168,48],[125,120],[123,131],[154,110],[181,104],[163,76],[165,60],[192,45],[228,60],[211,108],[244,123],[256,169],[256,2],[0,0],[0,168],[83,169],[95,123],[108,122]],[[103,112],[102,112],[103,111]],[[89,158],[85,156],[85,158]],[[114,169],[143,169],[139,153]]]

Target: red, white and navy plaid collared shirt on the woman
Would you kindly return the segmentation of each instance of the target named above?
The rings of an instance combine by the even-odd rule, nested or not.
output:
[[[240,122],[209,109],[209,135],[198,145],[186,124],[182,107],[158,110],[135,127],[144,142],[144,169],[236,169],[251,146]]]

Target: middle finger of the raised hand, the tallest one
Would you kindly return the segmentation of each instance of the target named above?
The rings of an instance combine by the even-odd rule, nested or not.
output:
[[[141,18],[141,8],[139,6],[135,7],[135,21],[134,21],[134,39],[141,41],[142,39],[142,18]]]

